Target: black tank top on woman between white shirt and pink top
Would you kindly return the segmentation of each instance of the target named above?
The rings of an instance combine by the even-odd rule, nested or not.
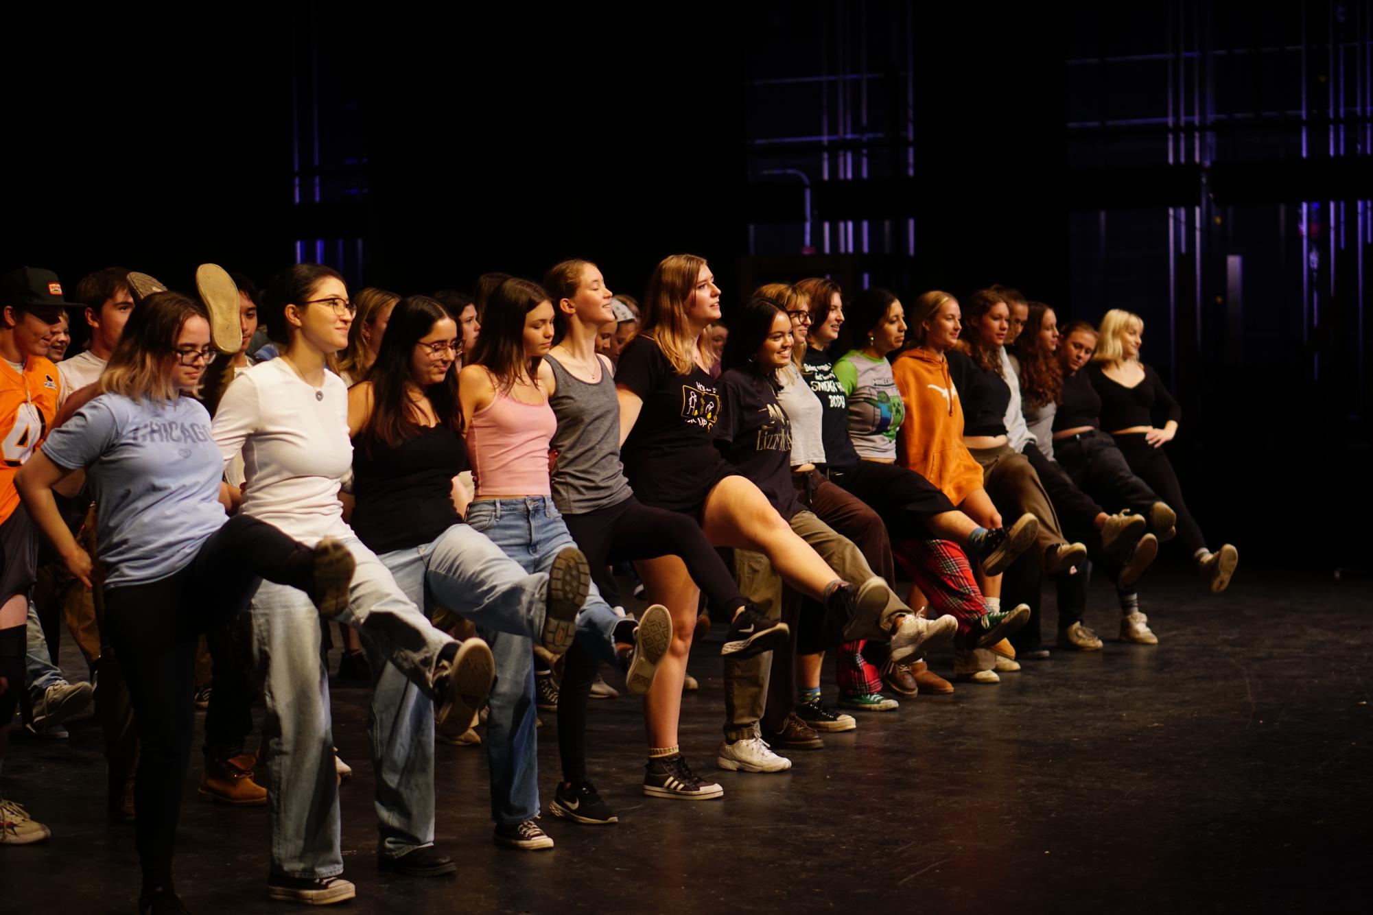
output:
[[[468,469],[463,438],[445,425],[420,429],[398,449],[353,443],[350,525],[373,553],[432,543],[460,523],[453,477]]]

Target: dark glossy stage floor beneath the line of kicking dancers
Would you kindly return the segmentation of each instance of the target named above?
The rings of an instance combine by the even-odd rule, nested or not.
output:
[[[356,774],[341,796],[358,897],[341,911],[1100,915],[1362,903],[1373,582],[1241,567],[1219,598],[1177,573],[1146,584],[1159,646],[1115,641],[1114,597],[1094,583],[1087,624],[1105,650],[1056,650],[1000,686],[855,713],[857,731],[794,753],[780,775],[715,770],[719,649],[697,645],[702,689],[682,701],[681,745],[725,797],[644,797],[640,704],[596,701],[592,779],[621,822],[545,815],[552,852],[493,845],[485,750],[441,745],[438,845],[459,861],[456,879],[378,874],[365,691],[335,687],[335,741]],[[63,665],[81,669],[63,645]],[[951,672],[947,656],[931,661]],[[832,698],[828,665],[824,683]],[[559,778],[555,717],[544,713],[540,730],[545,805]],[[93,719],[69,728],[67,741],[11,742],[0,787],[54,835],[0,848],[5,915],[135,911],[133,829],[106,822],[100,730]],[[183,900],[198,914],[291,911],[264,894],[265,808],[198,801],[199,734],[195,746]]]

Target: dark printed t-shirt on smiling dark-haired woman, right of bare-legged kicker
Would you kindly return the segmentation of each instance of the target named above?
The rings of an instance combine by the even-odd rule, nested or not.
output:
[[[715,447],[789,521],[802,505],[791,484],[791,420],[777,392],[755,375],[729,369],[719,376],[719,401]]]

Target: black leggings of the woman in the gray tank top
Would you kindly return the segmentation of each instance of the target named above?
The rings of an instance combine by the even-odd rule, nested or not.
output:
[[[611,558],[652,560],[677,556],[711,606],[732,612],[744,605],[739,584],[700,525],[688,514],[643,505],[630,495],[595,512],[563,514],[567,531],[586,554],[592,580],[601,591],[610,583]],[[567,650],[563,685],[557,694],[557,749],[563,781],[586,778],[586,702],[599,661],[578,643]]]

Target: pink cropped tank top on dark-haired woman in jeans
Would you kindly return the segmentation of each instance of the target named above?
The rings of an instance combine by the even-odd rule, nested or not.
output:
[[[523,403],[497,391],[467,427],[476,495],[552,495],[548,443],[556,431],[557,417],[548,401]]]

